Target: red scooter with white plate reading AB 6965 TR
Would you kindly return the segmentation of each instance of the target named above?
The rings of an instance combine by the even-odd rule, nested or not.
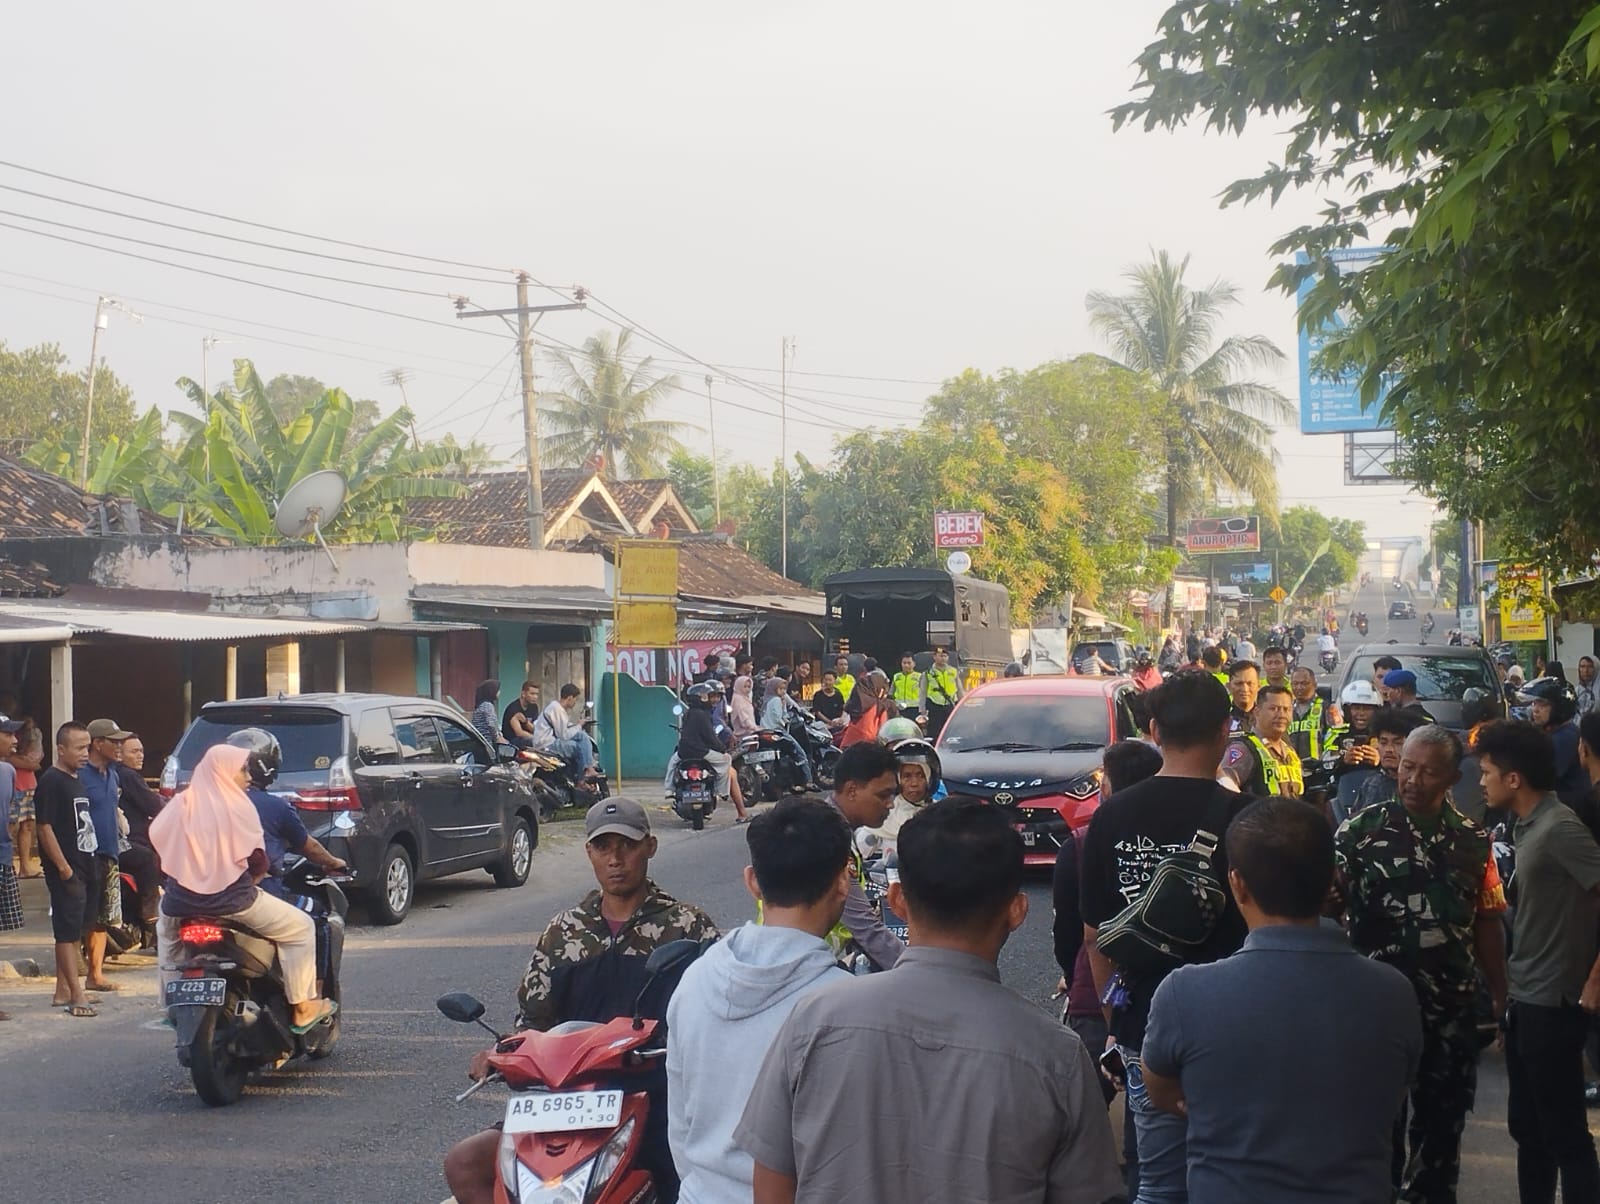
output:
[[[699,954],[701,945],[691,940],[659,946],[645,961],[645,991]],[[632,1018],[603,1025],[568,1020],[549,1033],[510,1036],[483,1021],[483,1004],[470,994],[454,991],[438,999],[438,1010],[448,1020],[478,1025],[494,1037],[488,1074],[461,1092],[456,1103],[491,1082],[512,1090],[494,1159],[496,1199],[522,1204],[656,1199],[650,1172],[638,1164],[650,1116],[650,1097],[638,1079],[653,1074],[667,1052],[651,1047],[661,1023],[640,1013],[645,991]]]

